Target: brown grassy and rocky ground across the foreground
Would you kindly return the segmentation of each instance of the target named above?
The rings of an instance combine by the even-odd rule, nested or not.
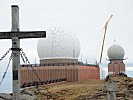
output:
[[[112,76],[116,84],[117,100],[133,100],[133,78],[121,75]],[[45,88],[25,88],[21,91],[22,100],[106,100],[105,80],[64,82],[47,85]],[[49,91],[47,92],[46,89]],[[50,98],[52,97],[52,98]],[[12,95],[0,94],[0,100],[11,100]]]

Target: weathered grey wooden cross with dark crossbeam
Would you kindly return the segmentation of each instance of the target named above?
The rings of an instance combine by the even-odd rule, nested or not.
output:
[[[12,30],[0,32],[0,39],[12,39],[13,100],[20,100],[20,39],[46,37],[46,31],[20,31],[19,7],[12,5]]]

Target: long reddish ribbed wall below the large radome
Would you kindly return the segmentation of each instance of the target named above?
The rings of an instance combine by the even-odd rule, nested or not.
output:
[[[32,70],[34,69],[34,70]],[[38,66],[38,67],[21,67],[20,82],[24,83],[50,81],[57,79],[66,79],[66,81],[79,81],[88,79],[100,79],[100,68],[97,66]]]

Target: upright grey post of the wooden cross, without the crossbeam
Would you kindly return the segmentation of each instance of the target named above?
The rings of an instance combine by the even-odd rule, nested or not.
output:
[[[20,40],[19,33],[19,7],[12,6],[12,71],[13,71],[13,100],[20,100]]]

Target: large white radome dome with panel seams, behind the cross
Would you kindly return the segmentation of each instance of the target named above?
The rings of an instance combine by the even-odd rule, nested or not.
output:
[[[80,42],[71,32],[53,28],[46,32],[46,38],[39,39],[37,51],[42,59],[78,59]]]

